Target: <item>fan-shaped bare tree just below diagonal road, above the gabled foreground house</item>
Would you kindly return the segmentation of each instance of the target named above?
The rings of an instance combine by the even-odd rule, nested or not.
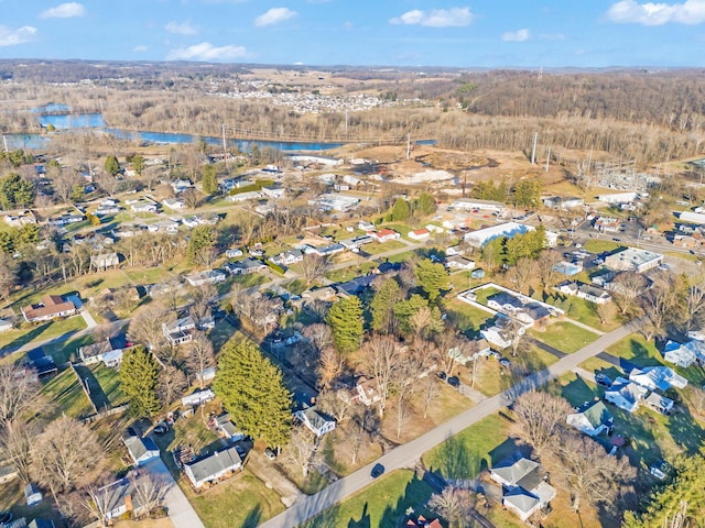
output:
[[[523,394],[513,405],[523,436],[538,453],[557,440],[561,425],[573,413],[571,405],[560,396],[532,391]]]

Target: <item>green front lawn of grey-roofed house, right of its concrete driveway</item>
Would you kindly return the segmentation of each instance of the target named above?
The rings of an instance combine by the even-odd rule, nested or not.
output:
[[[254,528],[284,510],[276,492],[248,471],[199,495],[191,490],[186,495],[206,528]]]

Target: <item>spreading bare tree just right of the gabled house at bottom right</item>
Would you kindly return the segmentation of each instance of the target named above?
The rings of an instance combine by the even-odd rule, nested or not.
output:
[[[556,454],[575,512],[583,499],[592,505],[614,503],[637,475],[627,457],[606,457],[605,448],[589,437],[564,433],[561,440]]]

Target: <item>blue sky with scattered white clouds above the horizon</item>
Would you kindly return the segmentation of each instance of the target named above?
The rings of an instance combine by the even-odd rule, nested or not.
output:
[[[704,66],[705,0],[0,0],[0,58]]]

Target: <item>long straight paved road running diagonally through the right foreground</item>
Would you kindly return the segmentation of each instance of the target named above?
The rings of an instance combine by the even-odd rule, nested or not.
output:
[[[430,449],[438,446],[453,435],[460,432],[463,429],[478,422],[482,418],[497,413],[502,407],[511,404],[520,395],[540,387],[546,382],[556,378],[566,372],[571,372],[573,369],[577,367],[579,363],[584,362],[588,358],[597,355],[607,346],[636,331],[638,329],[638,324],[639,321],[632,321],[617,330],[606,333],[597,341],[594,341],[573,354],[566,355],[547,369],[531,374],[503,393],[485,399],[471,409],[452,418],[447,422],[426,432],[422,437],[389,451],[375,462],[361,468],[345,479],[340,479],[339,481],[330,484],[322,492],[311,495],[294,504],[286,512],[262,522],[261,526],[263,528],[291,528],[306,521],[322,512],[325,512],[329,507],[345,501],[350,495],[356,494],[370,484],[370,471],[372,470],[372,466],[378,463],[382,464],[387,472],[401,468],[413,468],[416,460]]]

